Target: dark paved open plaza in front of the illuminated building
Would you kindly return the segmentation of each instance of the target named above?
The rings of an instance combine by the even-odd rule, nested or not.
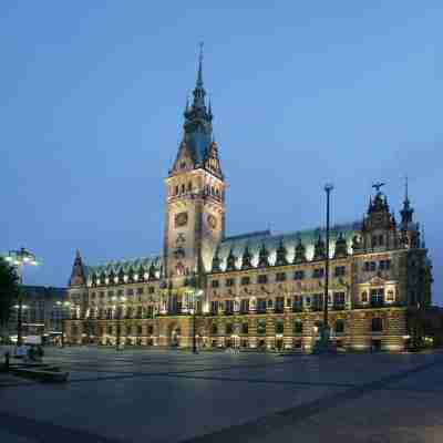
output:
[[[443,441],[439,352],[47,348],[45,360],[70,381],[0,374],[0,442]]]

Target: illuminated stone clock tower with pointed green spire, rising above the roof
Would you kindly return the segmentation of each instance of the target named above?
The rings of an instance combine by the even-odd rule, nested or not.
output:
[[[184,112],[183,140],[165,179],[164,271],[174,287],[210,269],[214,250],[225,235],[225,179],[202,61],[200,52],[193,103],[186,103]]]

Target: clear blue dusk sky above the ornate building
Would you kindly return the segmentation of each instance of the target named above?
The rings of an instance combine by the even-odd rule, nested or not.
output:
[[[241,3],[241,7],[238,4]],[[0,251],[42,260],[27,284],[157,255],[163,179],[205,42],[227,234],[361,219],[371,184],[414,218],[443,305],[439,1],[0,3]]]

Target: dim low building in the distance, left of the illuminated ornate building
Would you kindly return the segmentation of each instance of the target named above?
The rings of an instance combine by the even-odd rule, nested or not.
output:
[[[45,341],[61,339],[63,307],[66,300],[66,288],[45,286],[24,286],[22,298],[22,333],[41,336]],[[17,306],[12,308],[9,319],[9,334],[17,337]]]

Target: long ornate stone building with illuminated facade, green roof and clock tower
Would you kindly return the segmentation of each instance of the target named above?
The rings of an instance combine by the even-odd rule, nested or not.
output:
[[[200,58],[165,179],[163,253],[102,266],[78,253],[69,341],[185,348],[195,327],[205,348],[309,351],[316,342],[324,230],[225,236],[226,183],[205,95]],[[430,306],[431,264],[408,189],[396,223],[374,187],[362,220],[331,229],[329,326],[338,347],[401,350],[414,338],[414,316]]]

